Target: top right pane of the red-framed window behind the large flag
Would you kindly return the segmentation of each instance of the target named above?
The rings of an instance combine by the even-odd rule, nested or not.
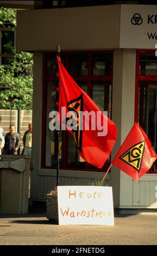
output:
[[[111,54],[93,55],[92,57],[92,75],[110,76],[111,75]]]

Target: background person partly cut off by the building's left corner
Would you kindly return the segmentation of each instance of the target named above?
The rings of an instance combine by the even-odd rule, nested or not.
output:
[[[24,132],[23,136],[23,155],[31,156],[32,150],[32,123],[29,123],[28,130]]]

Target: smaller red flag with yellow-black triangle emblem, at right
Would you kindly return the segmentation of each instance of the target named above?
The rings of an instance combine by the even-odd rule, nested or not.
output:
[[[138,181],[148,172],[156,157],[146,133],[135,123],[112,164]]]

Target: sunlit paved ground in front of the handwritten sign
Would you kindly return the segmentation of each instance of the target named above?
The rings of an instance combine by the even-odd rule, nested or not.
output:
[[[0,245],[157,245],[157,215],[116,215],[114,227],[57,225],[45,216],[0,215]]]

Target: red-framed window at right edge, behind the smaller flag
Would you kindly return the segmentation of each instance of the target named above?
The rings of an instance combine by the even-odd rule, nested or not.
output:
[[[155,51],[137,51],[135,121],[157,152],[157,57]],[[157,173],[157,161],[148,173]]]

